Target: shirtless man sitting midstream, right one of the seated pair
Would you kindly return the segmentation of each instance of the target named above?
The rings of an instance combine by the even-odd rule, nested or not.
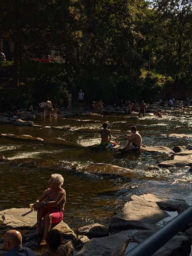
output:
[[[139,132],[137,132],[136,126],[131,126],[131,135],[127,135],[128,143],[126,147],[124,147],[125,150],[133,150],[133,149],[139,149],[141,147],[142,138]],[[130,146],[130,143],[132,143],[132,146]]]

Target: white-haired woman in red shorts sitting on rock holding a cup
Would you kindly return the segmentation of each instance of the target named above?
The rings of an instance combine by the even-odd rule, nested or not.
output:
[[[37,226],[34,236],[38,236],[41,230],[41,221],[44,219],[44,234],[40,245],[45,245],[45,237],[51,229],[51,224],[60,223],[63,220],[64,204],[66,201],[66,192],[61,186],[64,179],[62,175],[55,173],[51,175],[49,180],[49,188],[47,188],[42,196],[38,198],[33,205],[37,211]]]

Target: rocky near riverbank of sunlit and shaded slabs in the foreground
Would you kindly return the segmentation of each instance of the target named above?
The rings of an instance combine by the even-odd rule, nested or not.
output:
[[[78,228],[74,233],[62,221],[52,228],[60,230],[68,248],[68,256],[123,256],[129,242],[140,243],[160,228],[160,222],[166,223],[167,219],[170,220],[171,211],[180,214],[188,207],[185,201],[162,200],[154,194],[133,195],[119,213],[113,215],[108,227],[94,223]],[[37,245],[42,238],[42,233],[37,239],[33,238],[35,225],[36,213],[30,209],[11,208],[0,211],[1,233],[8,229],[21,230],[23,245],[34,251],[37,250]],[[192,227],[189,224],[154,255],[187,256],[190,253],[191,244]],[[36,255],[39,254],[36,253]]]

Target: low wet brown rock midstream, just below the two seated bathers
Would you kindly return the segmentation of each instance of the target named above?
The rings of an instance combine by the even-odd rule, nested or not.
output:
[[[92,164],[86,167],[79,166],[77,171],[87,172],[87,173],[120,175],[124,177],[131,177],[133,172],[132,170],[127,168],[123,168],[123,167],[112,165],[112,164],[104,164],[104,163]]]

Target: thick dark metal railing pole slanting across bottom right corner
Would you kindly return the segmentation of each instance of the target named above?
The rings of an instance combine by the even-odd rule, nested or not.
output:
[[[192,222],[192,206],[181,212],[173,220],[170,220],[156,233],[132,248],[132,250],[126,252],[124,256],[151,256],[190,222]]]

